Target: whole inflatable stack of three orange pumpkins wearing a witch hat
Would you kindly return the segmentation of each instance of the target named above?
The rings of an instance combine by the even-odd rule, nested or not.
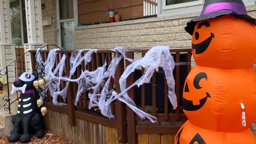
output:
[[[188,121],[175,144],[256,144],[256,19],[242,0],[205,0],[187,23],[196,66],[183,90]]]

